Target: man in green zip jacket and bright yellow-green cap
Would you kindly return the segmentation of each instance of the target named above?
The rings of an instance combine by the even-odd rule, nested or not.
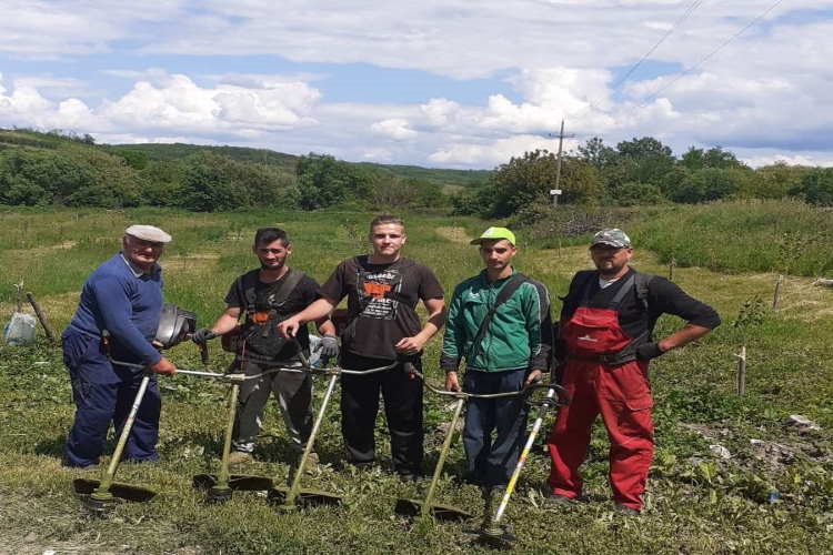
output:
[[[460,283],[451,297],[440,366],[445,389],[490,394],[519,391],[549,370],[550,296],[543,284],[512,268],[515,235],[489,228],[472,241],[485,269]],[[466,480],[483,490],[484,516],[492,492],[505,487],[518,462],[528,410],[520,396],[470,398],[463,428]]]

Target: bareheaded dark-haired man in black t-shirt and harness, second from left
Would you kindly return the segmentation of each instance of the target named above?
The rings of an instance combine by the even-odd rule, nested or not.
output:
[[[229,457],[231,464],[251,460],[254,437],[260,431],[263,407],[270,393],[278,401],[297,453],[303,451],[312,430],[312,379],[309,374],[275,371],[300,365],[298,344],[280,336],[275,326],[290,314],[312,304],[318,299],[319,285],[309,275],[287,264],[287,259],[292,254],[292,244],[283,230],[259,229],[252,251],[260,260],[260,269],[234,280],[225,295],[225,312],[210,329],[198,330],[192,336],[200,344],[234,331],[239,334],[239,346],[233,364],[247,375],[262,374],[240,386],[233,452]],[[241,316],[244,316],[244,321],[238,330]],[[339,347],[332,322],[324,314],[315,319],[315,324],[323,335],[321,354],[337,355]],[[298,343],[309,354],[310,339],[305,325],[298,330],[297,336]],[[311,464],[314,464],[314,458]]]

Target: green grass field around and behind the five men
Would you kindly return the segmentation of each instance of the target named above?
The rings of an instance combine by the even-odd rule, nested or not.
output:
[[[790,221],[791,214],[793,223],[816,218],[784,209],[786,220],[781,221]],[[654,215],[681,223],[670,233],[658,230],[653,220],[635,219],[634,265],[664,275],[669,252],[683,265],[699,264],[678,268],[675,281],[714,305],[724,323],[701,342],[652,364],[658,448],[644,515],[628,518],[612,512],[606,438],[596,426],[584,465],[589,501],[572,509],[542,505],[549,461],[536,448],[508,513],[519,536],[518,552],[830,552],[833,291],[811,285],[811,276],[825,270],[819,266],[792,274],[792,266],[785,268],[780,310],[773,312],[769,303],[776,273],[752,273],[733,262],[749,259],[737,254],[744,249],[761,249],[754,240],[744,241],[743,229],[730,226],[710,238],[712,259],[722,261],[712,264],[680,253],[696,246],[691,233],[685,233],[686,225],[700,225],[710,218],[720,221],[719,215],[701,208]],[[197,311],[200,325],[207,325],[221,313],[233,278],[252,266],[249,248],[255,228],[285,226],[294,238],[293,264],[323,280],[338,261],[365,249],[369,220],[370,214],[354,212],[0,211],[0,313],[3,320],[8,317],[13,309],[12,283],[22,279],[24,289],[36,294],[54,327],[61,330],[87,274],[118,250],[118,238],[129,223],[141,221],[158,224],[174,238],[162,260],[167,300]],[[408,215],[407,222],[407,254],[435,269],[448,291],[480,269],[468,240],[482,231],[483,222],[430,215]],[[823,232],[824,225],[830,224],[821,224]],[[777,236],[785,236],[785,246],[779,260],[794,266],[804,260],[795,251],[801,245],[790,243],[797,232],[782,231]],[[793,235],[783,234],[787,232]],[[559,310],[556,295],[565,292],[576,270],[589,265],[585,246],[579,240],[546,249],[528,244],[523,232],[519,236],[516,268],[543,281]],[[751,236],[759,235],[751,232]],[[640,249],[642,244],[655,250]],[[744,303],[754,306],[755,299],[761,300],[752,311],[756,317],[750,325],[734,326]],[[663,317],[658,333],[679,324]],[[739,397],[733,389],[734,353],[742,343],[749,349],[749,376],[746,394]],[[210,367],[223,370],[228,357],[219,346],[212,347]],[[199,366],[197,350],[190,344],[174,347],[169,356],[182,367]],[[424,357],[433,381],[440,379],[438,357],[439,341],[434,340]],[[420,497],[424,484],[400,484],[387,472],[388,438],[381,421],[380,466],[367,472],[338,467],[337,403],[328,412],[318,446],[325,465],[308,484],[342,494],[340,507],[278,515],[262,496],[251,493],[235,494],[224,506],[204,505],[191,490],[190,478],[217,468],[227,390],[185,376],[162,377],[160,383],[161,462],[126,464],[119,470],[120,481],[153,487],[160,495],[149,504],[120,506],[111,518],[96,519],[81,509],[71,491],[71,481],[80,472],[60,466],[73,413],[60,351],[43,341],[29,347],[0,346],[0,553],[48,548],[57,553],[182,554],[483,551],[470,543],[466,529],[472,524],[412,523],[393,514],[398,496]],[[319,383],[319,394],[322,389]],[[440,425],[450,412],[443,402],[428,400],[425,470],[430,472],[442,441]],[[817,422],[821,430],[801,431],[785,424],[796,413]],[[731,457],[721,457],[712,445],[725,447]],[[289,447],[272,404],[255,455],[258,462],[245,472],[285,476]],[[476,488],[451,482],[462,467],[458,438],[440,497],[479,513]]]

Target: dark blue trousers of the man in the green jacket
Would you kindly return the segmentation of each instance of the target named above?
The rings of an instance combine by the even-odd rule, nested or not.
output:
[[[466,370],[463,391],[490,394],[519,391],[526,370],[480,372]],[[466,480],[482,487],[504,486],[518,464],[529,408],[520,396],[470,398],[465,412],[463,446]]]

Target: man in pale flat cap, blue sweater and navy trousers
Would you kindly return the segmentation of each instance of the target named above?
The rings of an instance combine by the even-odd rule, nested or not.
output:
[[[141,364],[157,374],[175,369],[153,344],[162,310],[162,275],[157,261],[171,236],[152,225],[124,230],[122,250],[84,282],[76,315],[63,332],[63,361],[72,383],[76,418],[67,437],[63,465],[98,464],[112,422],[117,435],[141,382],[142,371],[112,364],[101,349],[110,334],[113,360]],[[123,458],[155,461],[161,402],[150,381],[124,447]]]

